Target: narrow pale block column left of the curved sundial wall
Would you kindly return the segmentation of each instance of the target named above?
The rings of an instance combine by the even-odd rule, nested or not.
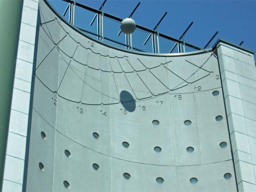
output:
[[[3,191],[22,191],[38,0],[24,0],[17,50]]]

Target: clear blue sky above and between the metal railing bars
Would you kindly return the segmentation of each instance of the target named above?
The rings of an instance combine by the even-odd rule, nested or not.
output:
[[[50,0],[59,12],[64,12],[66,3],[61,0]],[[99,9],[103,0],[77,0],[87,6]],[[139,25],[149,29],[160,20],[165,12],[166,17],[159,25],[159,31],[163,34],[179,38],[183,31],[193,21],[193,25],[185,35],[185,41],[203,48],[212,35],[218,31],[218,35],[210,45],[218,38],[226,39],[234,44],[242,44],[243,47],[256,51],[256,1],[191,1],[191,0],[107,0],[104,11],[120,18],[128,17],[137,3],[140,6],[133,15],[133,19]],[[75,24],[87,30],[96,32],[96,22],[89,26],[93,13],[80,8],[76,9]],[[108,28],[107,28],[108,27]],[[117,37],[119,23],[105,19],[105,36],[124,42],[124,35]],[[148,36],[141,31],[134,32],[134,47],[151,51],[151,42],[146,46],[143,42]],[[160,52],[168,52],[174,42],[160,39]]]

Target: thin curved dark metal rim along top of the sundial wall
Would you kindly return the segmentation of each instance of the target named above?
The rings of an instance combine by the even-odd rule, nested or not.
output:
[[[68,26],[70,26],[70,28],[72,28],[73,30],[75,30],[76,32],[80,33],[81,35],[84,35],[86,38],[89,38],[95,42],[97,42],[98,44],[102,44],[103,46],[106,47],[110,47],[112,49],[117,49],[119,51],[122,52],[129,52],[129,53],[133,53],[133,54],[137,54],[137,55],[148,55],[148,56],[184,56],[184,55],[196,55],[196,54],[201,54],[201,53],[205,53],[205,52],[211,52],[212,48],[208,48],[208,49],[202,49],[202,50],[198,50],[198,51],[192,51],[192,52],[182,52],[182,53],[151,53],[151,52],[140,52],[140,51],[136,51],[136,50],[128,50],[128,49],[124,49],[121,47],[117,47],[114,45],[111,45],[109,43],[106,43],[104,41],[100,41],[96,38],[91,37],[90,35],[87,35],[85,32],[81,31],[80,29],[78,29],[76,26],[73,26],[71,23],[69,23],[66,19],[64,19],[64,17],[62,15],[60,15],[53,7],[52,5],[48,2],[48,0],[43,0],[47,6],[52,10],[52,12],[61,19],[61,21],[63,21],[64,23],[66,23]]]

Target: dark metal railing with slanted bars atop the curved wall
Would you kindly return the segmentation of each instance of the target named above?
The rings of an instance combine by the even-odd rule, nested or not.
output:
[[[120,46],[124,46],[126,49],[135,49],[135,50],[138,50],[138,51],[143,51],[142,49],[139,49],[139,48],[136,48],[136,47],[133,46],[133,44],[132,44],[132,34],[130,34],[130,35],[125,34],[125,43],[122,43],[122,42],[119,42],[119,41],[116,41],[116,40],[113,40],[111,38],[108,38],[108,37],[104,36],[104,31],[105,31],[104,29],[105,29],[105,27],[107,27],[107,26],[104,26],[104,17],[108,17],[108,18],[110,18],[112,20],[115,20],[115,21],[117,21],[119,23],[121,23],[122,20],[123,20],[123,19],[121,19],[119,17],[116,17],[114,15],[111,15],[111,14],[108,14],[108,13],[104,12],[104,5],[105,5],[107,0],[105,0],[102,3],[102,5],[100,6],[99,9],[91,8],[91,7],[86,6],[86,5],[82,4],[82,3],[76,2],[76,0],[62,0],[62,1],[65,1],[65,2],[68,3],[68,6],[67,6],[67,8],[64,11],[63,16],[65,16],[67,14],[67,12],[69,11],[68,21],[72,25],[74,25],[74,23],[75,23],[75,10],[76,10],[76,6],[95,13],[95,16],[93,17],[93,19],[92,19],[92,21],[90,23],[90,26],[92,26],[93,22],[95,22],[95,20],[97,20],[97,33],[91,32],[91,31],[86,30],[86,29],[82,29],[81,27],[77,27],[81,31],[84,31],[84,32],[89,33],[91,35],[95,35],[101,41],[108,40],[108,41],[116,43],[116,44],[118,44]],[[130,18],[132,17],[132,15],[134,14],[134,12],[136,11],[136,9],[138,8],[139,5],[140,5],[140,3],[137,4],[135,9],[133,10],[131,15],[129,16]],[[136,29],[140,29],[140,30],[142,30],[144,32],[148,32],[149,33],[148,38],[146,38],[146,40],[145,40],[143,45],[145,45],[148,42],[148,40],[151,38],[151,40],[152,40],[152,52],[160,53],[159,37],[161,37],[161,38],[165,38],[167,40],[175,42],[174,46],[170,49],[169,53],[172,53],[176,46],[177,46],[177,52],[178,53],[186,52],[185,47],[191,47],[191,48],[193,48],[195,50],[202,50],[202,48],[200,48],[200,47],[197,47],[195,45],[192,45],[192,44],[189,44],[189,43],[185,42],[185,34],[189,30],[189,28],[192,26],[193,22],[190,23],[190,25],[183,32],[183,34],[180,36],[179,39],[176,39],[176,38],[170,37],[168,35],[165,35],[163,33],[160,33],[159,29],[158,29],[158,26],[159,26],[160,22],[163,20],[163,18],[166,16],[166,14],[167,14],[167,12],[163,15],[163,17],[160,19],[160,21],[157,23],[157,25],[154,27],[153,30],[152,29],[148,29],[148,28],[146,28],[144,26],[140,26],[138,24],[136,25]],[[211,40],[207,43],[206,47],[207,46],[209,47],[209,43],[217,35],[217,33],[218,32],[216,32],[215,35],[211,38]],[[117,35],[119,36],[120,34],[121,34],[121,30],[117,33]]]

